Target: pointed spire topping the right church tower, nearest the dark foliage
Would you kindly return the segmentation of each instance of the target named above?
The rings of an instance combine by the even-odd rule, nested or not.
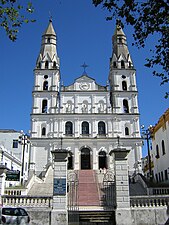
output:
[[[112,37],[112,44],[113,44],[113,52],[112,52],[113,61],[117,62],[119,60],[120,61],[123,60],[131,67],[132,60],[127,46],[126,35],[123,32],[121,22],[119,20],[117,20],[116,22],[115,32]]]

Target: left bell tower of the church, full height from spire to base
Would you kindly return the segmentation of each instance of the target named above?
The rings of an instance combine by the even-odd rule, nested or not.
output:
[[[40,165],[40,157],[46,162],[51,159],[50,153],[44,149],[44,144],[41,146],[41,143],[52,136],[52,116],[59,110],[60,62],[56,41],[52,20],[49,20],[48,27],[42,35],[40,53],[34,69],[31,114],[32,170],[35,169],[35,162]],[[42,168],[36,168],[36,171],[38,170]]]

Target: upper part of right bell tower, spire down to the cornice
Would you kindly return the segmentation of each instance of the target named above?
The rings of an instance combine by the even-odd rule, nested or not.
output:
[[[109,82],[113,112],[138,113],[136,71],[119,21],[112,37],[112,45]]]

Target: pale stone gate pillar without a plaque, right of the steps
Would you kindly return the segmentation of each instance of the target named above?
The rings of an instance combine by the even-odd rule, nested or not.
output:
[[[131,225],[131,210],[129,196],[128,163],[129,150],[117,148],[110,152],[115,159],[116,184],[116,225]]]

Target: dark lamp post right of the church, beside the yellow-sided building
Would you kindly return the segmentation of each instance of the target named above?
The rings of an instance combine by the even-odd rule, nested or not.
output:
[[[149,174],[150,174],[150,181],[153,181],[153,174],[152,174],[152,167],[151,167],[151,154],[150,154],[150,139],[151,136],[151,128],[152,125],[150,125],[147,129],[144,129],[144,125],[141,126],[142,129],[142,137],[147,142],[147,152],[148,152],[148,168],[149,168]]]

